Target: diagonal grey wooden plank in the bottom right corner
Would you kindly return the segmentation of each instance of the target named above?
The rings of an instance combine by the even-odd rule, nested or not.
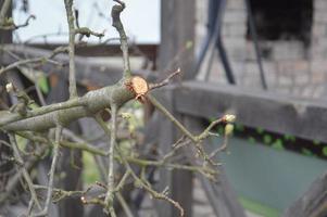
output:
[[[327,171],[317,178],[307,191],[282,215],[284,217],[327,216]]]

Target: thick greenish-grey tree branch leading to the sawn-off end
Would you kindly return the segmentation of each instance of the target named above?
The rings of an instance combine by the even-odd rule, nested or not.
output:
[[[1,112],[0,128],[11,131],[43,131],[60,123],[65,126],[80,117],[92,116],[115,103],[118,107],[134,99],[134,93],[118,82],[88,92],[63,103],[56,103],[27,112],[26,116]]]

